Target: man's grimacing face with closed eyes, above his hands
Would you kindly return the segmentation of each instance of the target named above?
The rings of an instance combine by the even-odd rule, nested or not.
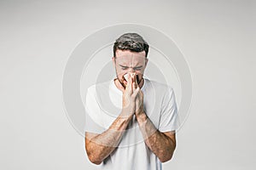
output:
[[[137,82],[141,82],[143,79],[143,73],[148,63],[148,59],[145,57],[146,53],[143,52],[131,52],[130,50],[116,50],[115,58],[113,57],[113,65],[119,82],[126,87],[125,74],[135,73],[137,75]]]

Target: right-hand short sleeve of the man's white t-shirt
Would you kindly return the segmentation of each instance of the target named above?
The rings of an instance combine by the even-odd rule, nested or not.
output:
[[[175,94],[173,89],[171,87],[168,87],[162,101],[159,131],[174,131],[177,130],[177,127],[178,116]]]

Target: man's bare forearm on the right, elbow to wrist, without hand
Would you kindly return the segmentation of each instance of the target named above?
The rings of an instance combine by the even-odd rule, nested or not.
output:
[[[175,141],[166,136],[165,133],[160,133],[145,113],[137,116],[137,122],[148,148],[159,157],[160,161],[169,161],[176,147]]]

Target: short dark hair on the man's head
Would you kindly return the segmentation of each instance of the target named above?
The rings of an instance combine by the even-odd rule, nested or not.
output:
[[[145,51],[146,57],[148,56],[148,42],[137,33],[125,33],[120,36],[113,44],[113,57],[117,49],[130,50],[132,52]]]

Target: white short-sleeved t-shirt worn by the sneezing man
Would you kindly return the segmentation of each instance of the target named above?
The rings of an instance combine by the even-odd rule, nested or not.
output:
[[[144,111],[160,132],[176,130],[177,105],[173,89],[160,82],[145,79],[143,84]],[[122,109],[122,92],[114,81],[93,85],[87,90],[85,127],[89,133],[103,133]],[[117,149],[105,159],[100,169],[160,170],[161,162],[149,150],[135,116],[125,131]]]

